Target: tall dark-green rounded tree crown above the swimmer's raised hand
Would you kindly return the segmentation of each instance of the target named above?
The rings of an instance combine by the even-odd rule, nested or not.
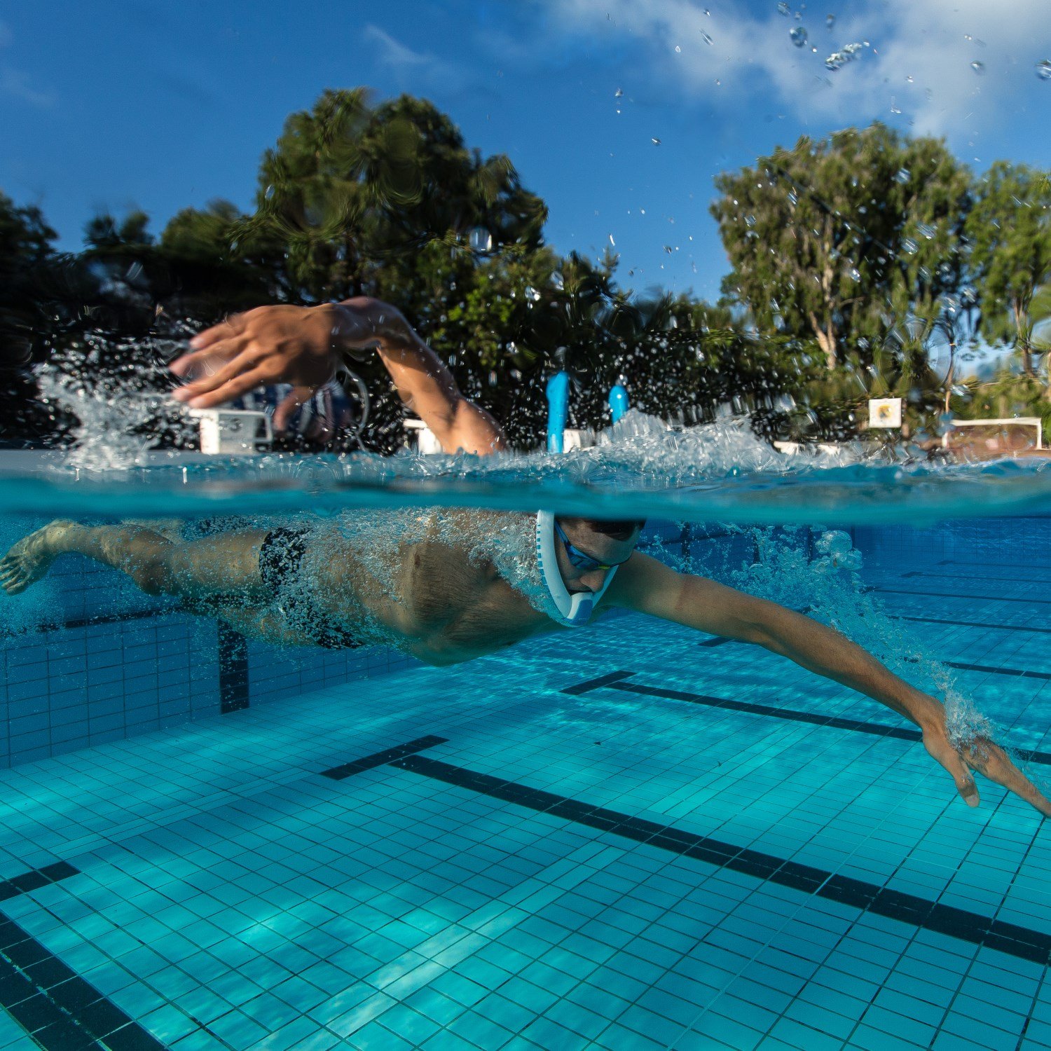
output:
[[[277,253],[301,302],[411,285],[414,254],[435,240],[481,254],[539,247],[545,219],[511,162],[469,150],[430,102],[373,106],[360,88],[327,90],[289,117],[259,184],[242,250]]]

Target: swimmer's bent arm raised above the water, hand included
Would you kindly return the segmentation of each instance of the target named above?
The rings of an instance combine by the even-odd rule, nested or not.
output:
[[[446,452],[485,455],[506,448],[499,424],[463,397],[401,312],[365,296],[318,307],[257,307],[206,329],[190,341],[189,353],[171,363],[176,375],[193,377],[172,396],[209,409],[265,384],[291,384],[274,413],[282,430],[295,407],[335,375],[344,355],[371,350]]]

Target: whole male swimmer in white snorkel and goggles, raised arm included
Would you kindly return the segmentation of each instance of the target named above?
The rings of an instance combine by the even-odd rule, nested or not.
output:
[[[332,378],[345,354],[370,352],[446,452],[488,455],[507,448],[500,426],[462,396],[401,313],[364,297],[261,307],[202,332],[172,363],[187,379],[174,396],[209,408],[261,384],[291,384],[275,413],[280,429],[297,404]],[[531,601],[498,557],[478,557],[487,536],[499,538],[509,523],[523,520],[483,511],[419,513],[409,534],[373,530],[365,545],[331,523],[183,539],[142,524],[61,520],[11,549],[0,560],[0,584],[17,594],[59,555],[76,552],[119,570],[149,594],[174,596],[193,612],[272,642],[345,647],[383,639],[435,665],[471,660],[541,632],[577,630],[619,606],[763,646],[857,689],[920,727],[927,751],[969,806],[978,803],[971,771],[980,770],[1051,816],[1051,802],[992,741],[953,744],[935,698],[818,621],[636,551],[639,521],[547,512],[531,517],[533,573],[543,592],[542,602]]]

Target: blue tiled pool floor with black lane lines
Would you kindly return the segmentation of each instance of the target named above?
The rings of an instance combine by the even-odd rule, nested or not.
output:
[[[1051,672],[1051,636],[961,626],[1006,602],[869,582],[916,592],[883,597],[946,661]],[[988,783],[967,808],[880,705],[700,641],[625,616],[4,771],[5,1003],[42,988],[13,1014],[44,1046],[76,1018],[115,1051],[1051,1047],[1038,815]],[[1051,751],[1049,680],[973,667]]]

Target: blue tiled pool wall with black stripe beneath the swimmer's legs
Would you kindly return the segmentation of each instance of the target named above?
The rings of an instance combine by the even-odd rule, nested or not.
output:
[[[18,634],[0,640],[0,767],[416,663],[391,650],[248,640],[79,556],[35,591],[32,604],[29,594],[4,604]]]

